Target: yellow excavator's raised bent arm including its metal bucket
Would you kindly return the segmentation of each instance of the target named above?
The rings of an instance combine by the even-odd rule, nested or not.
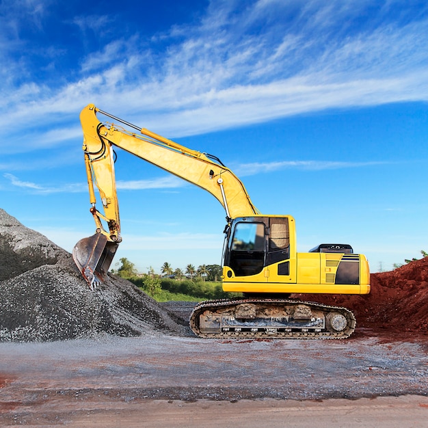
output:
[[[97,112],[113,119],[113,122],[100,122]],[[209,191],[224,207],[228,223],[235,217],[260,214],[241,180],[216,157],[181,146],[148,129],[139,129],[94,105],[88,105],[81,111],[80,120],[90,211],[96,224],[96,234],[77,243],[73,258],[91,288],[96,286],[96,282],[105,279],[121,241],[114,172],[115,146]],[[138,133],[122,128],[118,122]],[[98,188],[103,212],[96,208],[94,187]],[[106,228],[103,222],[107,224]]]

